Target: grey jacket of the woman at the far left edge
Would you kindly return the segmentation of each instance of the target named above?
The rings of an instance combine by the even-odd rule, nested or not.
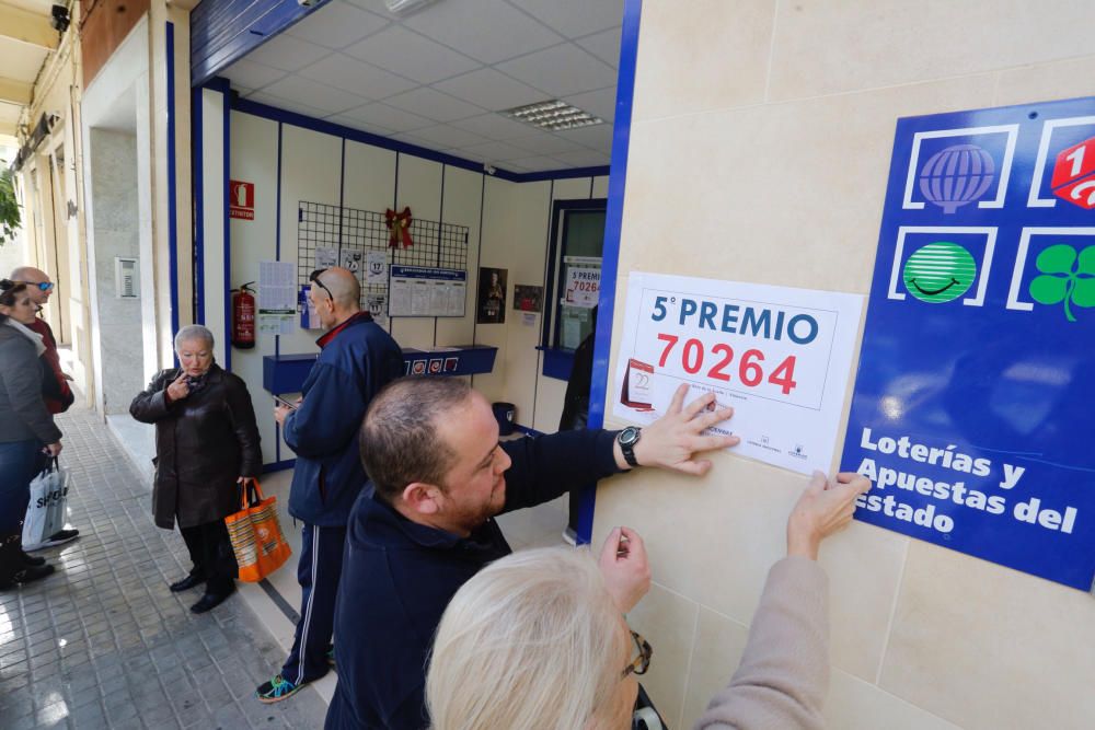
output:
[[[42,368],[34,343],[0,323],[0,443],[61,440],[42,397]]]

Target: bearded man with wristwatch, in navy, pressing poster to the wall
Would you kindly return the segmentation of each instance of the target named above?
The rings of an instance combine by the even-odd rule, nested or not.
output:
[[[684,408],[687,391],[641,433],[578,430],[505,443],[489,403],[458,379],[403,379],[378,394],[361,427],[372,489],[348,525],[327,730],[428,726],[426,664],[441,614],[466,580],[510,553],[495,515],[629,466],[706,473],[711,462],[693,454],[738,439],[702,431],[733,412],[708,412],[711,394]]]

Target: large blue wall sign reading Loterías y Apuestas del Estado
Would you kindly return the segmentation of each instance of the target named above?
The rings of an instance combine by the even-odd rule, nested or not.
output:
[[[899,119],[842,468],[856,518],[1095,578],[1095,99]]]

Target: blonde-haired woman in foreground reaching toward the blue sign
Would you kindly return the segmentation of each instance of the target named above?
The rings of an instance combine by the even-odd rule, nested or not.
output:
[[[729,686],[696,722],[729,728],[822,728],[829,647],[820,543],[852,519],[871,483],[815,473],[787,521],[776,563]],[[649,644],[622,610],[648,587],[613,577],[616,561],[645,565],[642,540],[613,531],[597,563],[584,551],[507,556],[457,592],[437,630],[426,703],[435,730],[625,730],[649,665]],[[629,593],[630,591],[630,593]],[[632,605],[634,605],[632,603]]]

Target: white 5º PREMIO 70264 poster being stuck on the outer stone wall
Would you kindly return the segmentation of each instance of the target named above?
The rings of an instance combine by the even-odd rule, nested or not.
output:
[[[734,417],[734,453],[809,474],[837,447],[863,297],[633,273],[612,413],[648,424],[681,383]]]

